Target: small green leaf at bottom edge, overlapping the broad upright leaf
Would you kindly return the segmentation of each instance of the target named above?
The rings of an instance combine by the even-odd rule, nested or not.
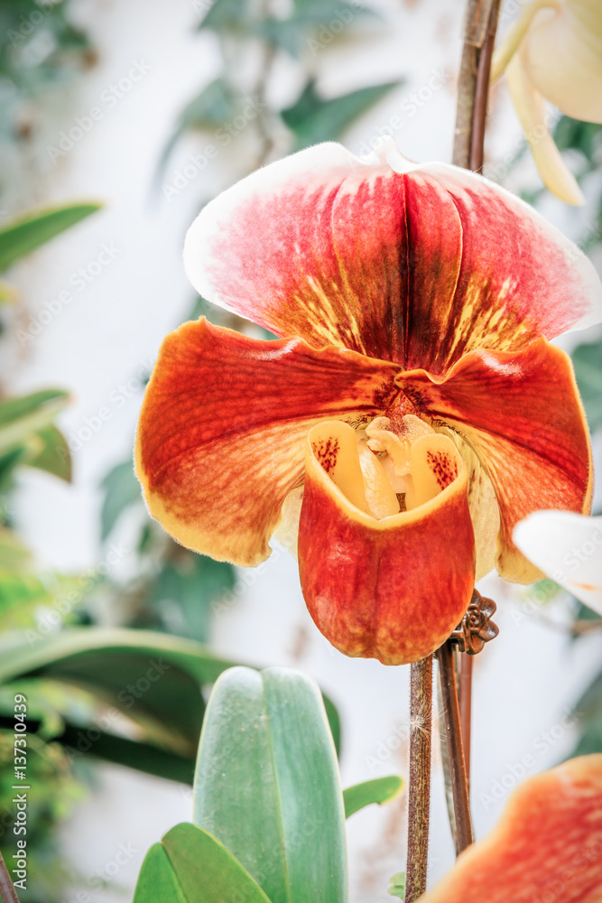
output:
[[[196,824],[176,824],[144,859],[134,903],[270,903],[226,847]]]

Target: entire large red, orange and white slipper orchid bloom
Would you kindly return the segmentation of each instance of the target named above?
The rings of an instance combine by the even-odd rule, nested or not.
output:
[[[539,577],[514,525],[589,504],[549,343],[601,318],[577,247],[477,175],[320,144],[208,204],[184,257],[205,298],[284,338],[201,319],[164,340],[136,456],[171,535],[253,566],[298,527],[317,626],[387,664],[439,647],[476,576]]]

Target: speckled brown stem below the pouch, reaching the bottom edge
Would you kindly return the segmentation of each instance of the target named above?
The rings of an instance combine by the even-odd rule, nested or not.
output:
[[[432,656],[410,671],[410,776],[405,903],[426,890],[431,807]]]

